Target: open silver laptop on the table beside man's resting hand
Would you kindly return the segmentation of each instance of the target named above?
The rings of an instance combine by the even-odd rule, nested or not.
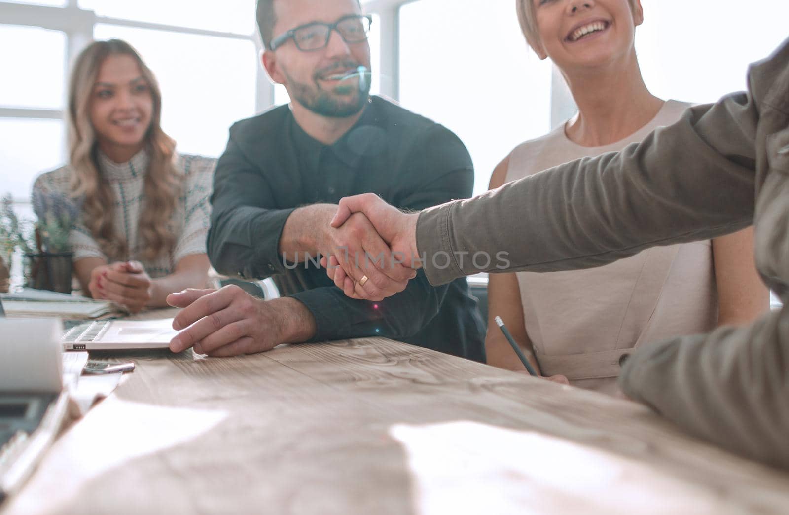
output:
[[[62,342],[66,351],[167,348],[177,335],[172,318],[95,320],[75,325],[65,332]]]

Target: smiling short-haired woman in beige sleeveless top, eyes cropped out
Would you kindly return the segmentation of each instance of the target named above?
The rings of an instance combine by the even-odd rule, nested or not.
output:
[[[634,47],[644,21],[641,0],[516,0],[516,6],[526,41],[561,70],[578,114],[518,145],[495,168],[492,189],[622,150],[676,122],[689,107],[657,98],[641,77]],[[574,202],[582,205],[584,198]],[[533,351],[543,376],[604,393],[618,391],[620,367],[634,348],[745,324],[769,302],[753,263],[752,228],[655,247],[596,269],[492,274],[488,288],[489,364],[524,369],[492,321],[499,315],[518,344]]]

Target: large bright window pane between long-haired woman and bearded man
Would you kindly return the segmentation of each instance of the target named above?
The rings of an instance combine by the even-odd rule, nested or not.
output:
[[[227,130],[255,115],[252,41],[98,24],[96,39],[131,43],[162,87],[162,126],[178,151],[219,156]]]

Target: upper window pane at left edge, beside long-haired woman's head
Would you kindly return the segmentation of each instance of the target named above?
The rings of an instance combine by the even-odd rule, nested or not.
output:
[[[0,24],[0,48],[0,106],[62,109],[63,32]]]

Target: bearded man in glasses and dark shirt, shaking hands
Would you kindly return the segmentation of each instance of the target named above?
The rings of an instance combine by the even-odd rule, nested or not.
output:
[[[366,254],[388,246],[362,215],[330,227],[337,201],[374,192],[423,209],[469,197],[465,146],[443,126],[368,95],[370,19],[357,0],[261,0],[257,17],[264,66],[292,101],[231,128],[211,197],[208,256],[219,273],[274,276],[286,297],[262,303],[239,288],[176,295],[174,305],[190,306],[176,320],[198,323],[172,348],[236,355],[387,336],[484,361],[484,324],[465,278],[432,287],[419,273],[402,293],[369,302],[347,298],[316,264],[318,254],[350,246],[349,258],[366,261],[368,280],[380,283]],[[375,236],[354,247],[364,232]]]

